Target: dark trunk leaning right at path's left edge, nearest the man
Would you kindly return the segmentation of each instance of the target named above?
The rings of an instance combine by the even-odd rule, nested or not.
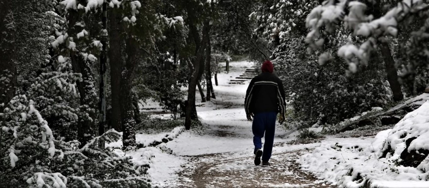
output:
[[[207,22],[207,21],[205,21],[205,22]],[[192,23],[190,25],[192,25]],[[186,106],[186,113],[185,113],[186,114],[185,115],[185,128],[186,128],[186,130],[190,129],[190,124],[192,122],[191,115],[192,115],[193,108],[195,108],[196,85],[198,84],[198,80],[199,80],[198,76],[199,76],[200,66],[202,66],[202,64],[203,64],[202,62],[203,62],[203,56],[204,56],[204,49],[205,49],[205,45],[207,44],[205,35],[208,33],[207,31],[210,29],[209,27],[210,26],[208,24],[204,24],[204,27],[202,29],[203,30],[202,42],[201,42],[199,48],[196,50],[195,63],[193,63],[194,69],[193,69],[193,73],[192,73],[192,76],[190,77],[189,84],[188,84],[188,96],[187,96],[188,105]],[[195,27],[191,27],[191,28],[195,29]],[[193,33],[195,33],[195,32],[193,32]]]

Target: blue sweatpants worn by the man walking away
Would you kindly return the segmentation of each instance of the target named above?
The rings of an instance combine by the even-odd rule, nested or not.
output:
[[[277,118],[276,112],[262,112],[256,113],[253,117],[252,132],[253,144],[255,145],[255,152],[257,149],[262,148],[261,138],[264,137],[265,143],[263,149],[262,160],[268,161],[271,158],[272,145],[274,143],[275,132],[275,119]]]

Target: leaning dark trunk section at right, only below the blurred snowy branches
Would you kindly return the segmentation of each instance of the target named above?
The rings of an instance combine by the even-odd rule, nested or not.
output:
[[[401,84],[399,84],[398,81],[398,72],[395,68],[395,60],[393,60],[389,44],[381,42],[380,49],[381,54],[383,55],[384,65],[386,66],[387,81],[389,81],[390,89],[393,93],[393,100],[400,101],[404,96],[402,95]]]

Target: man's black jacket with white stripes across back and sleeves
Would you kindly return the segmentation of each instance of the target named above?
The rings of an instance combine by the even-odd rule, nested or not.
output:
[[[245,98],[246,114],[278,112],[284,117],[286,107],[281,80],[269,72],[263,72],[250,81]]]

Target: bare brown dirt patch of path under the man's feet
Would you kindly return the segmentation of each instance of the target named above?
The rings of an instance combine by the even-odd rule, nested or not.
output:
[[[196,187],[334,187],[300,170],[296,159],[302,152],[275,153],[269,167],[254,166],[253,157],[228,158],[228,153],[194,156],[214,161],[199,162],[190,179]]]

